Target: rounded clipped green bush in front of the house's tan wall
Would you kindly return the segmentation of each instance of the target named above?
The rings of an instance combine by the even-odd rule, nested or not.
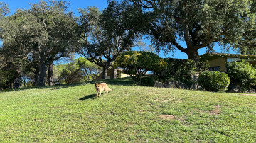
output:
[[[207,91],[223,91],[228,89],[230,78],[223,72],[205,71],[200,74],[198,84]]]

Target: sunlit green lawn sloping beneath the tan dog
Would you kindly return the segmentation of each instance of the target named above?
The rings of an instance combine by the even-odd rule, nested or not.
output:
[[[0,93],[0,142],[256,142],[256,96],[94,84]]]

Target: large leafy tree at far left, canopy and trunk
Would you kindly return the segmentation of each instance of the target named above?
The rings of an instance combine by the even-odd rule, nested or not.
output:
[[[77,23],[67,10],[63,1],[40,1],[1,21],[3,49],[31,63],[38,86],[45,85],[47,65],[73,51]]]

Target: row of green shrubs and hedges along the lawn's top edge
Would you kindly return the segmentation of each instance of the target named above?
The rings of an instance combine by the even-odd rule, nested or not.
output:
[[[162,59],[151,52],[124,52],[115,64],[144,86],[255,93],[256,69],[249,62],[228,62],[227,73],[209,71],[208,61]],[[154,76],[145,76],[146,72]],[[196,77],[195,77],[196,76]]]

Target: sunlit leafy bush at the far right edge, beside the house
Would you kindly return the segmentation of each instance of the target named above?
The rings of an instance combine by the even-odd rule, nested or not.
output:
[[[228,62],[227,69],[233,84],[238,84],[242,88],[256,85],[256,69],[248,62]]]

